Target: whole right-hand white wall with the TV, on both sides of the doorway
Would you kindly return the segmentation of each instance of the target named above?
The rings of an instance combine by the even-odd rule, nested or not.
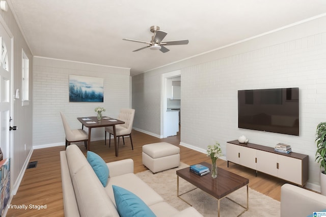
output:
[[[287,143],[293,151],[309,155],[309,187],[318,189],[314,139],[317,124],[326,118],[324,23],[326,17],[321,17],[134,76],[132,106],[141,110],[142,103],[156,102],[161,74],[181,69],[182,145],[205,151],[218,141],[225,154],[226,142],[240,135],[271,147]],[[147,88],[148,82],[154,89]],[[300,136],[238,129],[237,90],[278,87],[300,88]],[[141,92],[152,95],[145,98]],[[156,107],[150,118],[139,113],[134,127],[160,136]]]

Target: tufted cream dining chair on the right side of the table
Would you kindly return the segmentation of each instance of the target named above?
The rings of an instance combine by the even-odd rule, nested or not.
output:
[[[124,121],[122,125],[116,125],[116,136],[118,137],[118,145],[119,138],[122,137],[124,144],[124,136],[130,137],[131,148],[133,150],[132,138],[131,138],[131,130],[132,130],[132,122],[134,117],[134,109],[120,109],[120,113],[118,115],[118,119]],[[113,127],[105,127],[105,145],[106,145],[106,132],[110,134],[108,145],[111,146],[111,135],[113,134]]]

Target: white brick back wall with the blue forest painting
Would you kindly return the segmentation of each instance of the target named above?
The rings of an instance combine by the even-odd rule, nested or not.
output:
[[[69,102],[70,74],[103,78],[104,102]],[[34,57],[33,75],[34,148],[65,144],[60,111],[71,129],[80,129],[82,125],[77,117],[96,116],[97,106],[104,107],[103,115],[111,117],[117,117],[120,108],[131,107],[129,69]],[[92,130],[91,139],[104,139],[103,128]]]

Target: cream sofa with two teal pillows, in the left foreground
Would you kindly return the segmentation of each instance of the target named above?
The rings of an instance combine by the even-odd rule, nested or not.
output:
[[[60,152],[65,216],[119,216],[112,185],[140,197],[156,216],[202,216],[195,208],[178,211],[133,173],[131,159],[107,163],[110,176],[106,187],[96,176],[78,146]]]

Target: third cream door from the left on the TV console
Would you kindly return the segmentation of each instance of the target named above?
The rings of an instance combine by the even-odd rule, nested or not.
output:
[[[257,171],[278,176],[278,154],[257,150]]]

